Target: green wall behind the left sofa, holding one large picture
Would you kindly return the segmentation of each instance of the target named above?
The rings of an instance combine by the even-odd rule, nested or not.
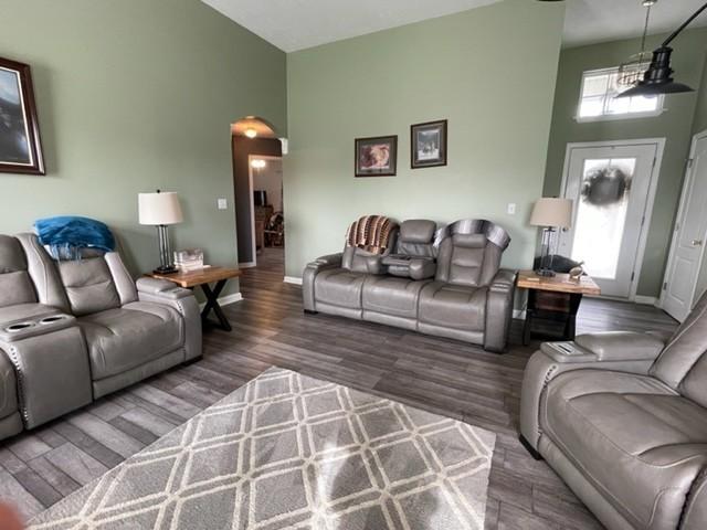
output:
[[[0,173],[0,232],[94,216],[148,271],[137,193],[161,188],[184,210],[175,247],[236,263],[230,124],[253,114],[285,131],[285,54],[199,0],[2,0],[0,20],[0,55],[32,66],[48,168]]]

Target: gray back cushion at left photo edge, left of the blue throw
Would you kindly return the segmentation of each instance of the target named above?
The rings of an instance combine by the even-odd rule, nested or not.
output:
[[[0,235],[0,307],[36,301],[27,257],[15,237]]]

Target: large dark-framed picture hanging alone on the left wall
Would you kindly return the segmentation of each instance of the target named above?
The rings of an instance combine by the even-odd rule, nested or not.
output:
[[[0,172],[44,174],[30,66],[0,57]]]

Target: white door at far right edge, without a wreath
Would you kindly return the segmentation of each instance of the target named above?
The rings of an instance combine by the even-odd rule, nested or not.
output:
[[[707,131],[693,140],[689,167],[663,284],[663,309],[685,320],[696,297],[707,237]]]

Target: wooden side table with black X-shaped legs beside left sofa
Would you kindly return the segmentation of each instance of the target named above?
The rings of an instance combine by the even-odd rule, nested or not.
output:
[[[146,276],[173,282],[184,289],[201,287],[201,290],[203,290],[203,294],[207,297],[207,305],[203,306],[203,309],[201,310],[202,322],[207,324],[209,314],[213,311],[219,320],[218,327],[225,331],[231,331],[231,324],[229,322],[229,319],[225,318],[223,309],[221,309],[221,306],[219,305],[219,295],[223,290],[223,287],[225,287],[229,279],[236,278],[241,276],[241,271],[238,268],[204,267],[188,272],[180,271],[175,274],[149,273],[146,274]],[[209,285],[212,283],[215,283],[213,289]]]

